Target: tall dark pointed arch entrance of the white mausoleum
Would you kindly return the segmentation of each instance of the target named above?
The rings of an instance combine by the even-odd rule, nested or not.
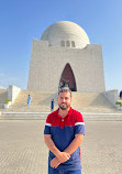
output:
[[[63,73],[62,73],[60,80],[59,80],[59,87],[63,85],[64,81],[66,81],[68,84],[71,91],[77,91],[76,79],[75,79],[74,72],[73,72],[69,63],[66,64]]]

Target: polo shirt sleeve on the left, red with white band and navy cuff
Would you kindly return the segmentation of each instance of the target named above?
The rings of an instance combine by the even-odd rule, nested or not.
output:
[[[52,127],[51,115],[48,115],[45,122],[44,134],[51,134],[51,127]]]

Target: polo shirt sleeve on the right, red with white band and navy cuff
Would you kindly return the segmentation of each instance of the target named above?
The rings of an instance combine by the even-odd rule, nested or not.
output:
[[[76,116],[75,134],[85,134],[85,122],[80,112]]]

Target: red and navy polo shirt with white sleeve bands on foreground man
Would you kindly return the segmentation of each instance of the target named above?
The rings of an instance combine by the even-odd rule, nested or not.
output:
[[[44,134],[52,134],[56,148],[63,152],[75,139],[75,134],[85,134],[82,115],[70,107],[68,115],[62,118],[58,109],[48,115]],[[49,151],[48,161],[55,155]],[[81,168],[79,148],[70,155],[70,159],[58,166],[59,170],[76,171]]]

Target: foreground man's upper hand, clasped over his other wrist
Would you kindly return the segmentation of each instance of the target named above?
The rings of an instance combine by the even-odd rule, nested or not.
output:
[[[57,155],[57,159],[60,163],[66,162],[67,160],[69,160],[70,155],[67,152],[59,152]]]

